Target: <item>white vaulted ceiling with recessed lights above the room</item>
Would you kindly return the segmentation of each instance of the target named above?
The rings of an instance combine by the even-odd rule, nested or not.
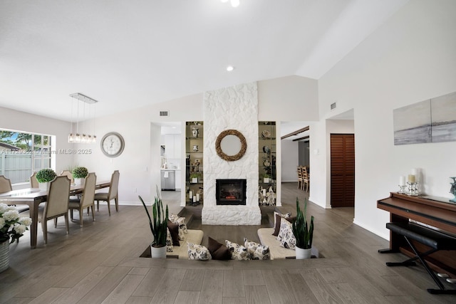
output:
[[[0,1],[0,106],[70,120],[76,92],[106,115],[256,80],[318,79],[407,1]]]

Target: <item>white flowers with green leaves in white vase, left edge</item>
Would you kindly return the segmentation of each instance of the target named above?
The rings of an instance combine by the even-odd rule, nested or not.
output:
[[[0,204],[0,273],[9,267],[9,244],[19,243],[30,225],[31,218],[20,217],[16,207]]]

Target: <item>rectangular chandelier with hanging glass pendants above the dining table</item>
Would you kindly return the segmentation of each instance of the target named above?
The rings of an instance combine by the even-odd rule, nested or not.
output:
[[[96,136],[95,135],[86,135],[83,133],[82,135],[79,133],[79,105],[80,102],[83,103],[83,117],[82,119],[86,119],[86,104],[89,105],[89,116],[90,116],[90,108],[95,108],[95,103],[98,103],[97,100],[90,98],[86,95],[81,93],[73,93],[70,94],[71,97],[71,127],[70,127],[70,134],[68,135],[68,142],[70,143],[95,143]],[[76,100],[76,133],[73,132],[73,103]],[[95,121],[95,110],[93,112],[92,119]],[[90,118],[90,117],[89,117]],[[88,131],[88,130],[86,130]],[[95,122],[93,122],[93,132],[95,132]]]

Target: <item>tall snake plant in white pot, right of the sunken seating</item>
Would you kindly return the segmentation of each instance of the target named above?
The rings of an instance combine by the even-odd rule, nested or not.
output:
[[[311,223],[307,221],[307,199],[304,201],[304,214],[299,208],[299,199],[296,197],[296,220],[291,225],[296,238],[296,259],[310,258],[312,239],[314,238],[314,216]]]

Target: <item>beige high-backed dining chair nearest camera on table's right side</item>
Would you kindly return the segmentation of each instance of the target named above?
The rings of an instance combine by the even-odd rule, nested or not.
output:
[[[48,220],[54,219],[57,227],[57,218],[65,218],[66,234],[70,233],[68,224],[68,201],[71,181],[68,177],[55,177],[49,183],[48,200],[43,208],[38,208],[38,221],[43,229],[44,243],[48,243]]]

